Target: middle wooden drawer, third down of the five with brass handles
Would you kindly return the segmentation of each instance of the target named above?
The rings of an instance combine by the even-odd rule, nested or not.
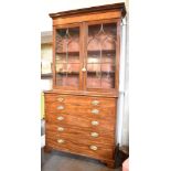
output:
[[[103,131],[114,131],[115,128],[115,119],[97,119],[97,118],[89,118],[86,115],[82,117],[66,115],[66,114],[46,114],[46,124],[54,124],[54,125],[68,125],[68,126],[77,126],[85,129],[96,129]]]

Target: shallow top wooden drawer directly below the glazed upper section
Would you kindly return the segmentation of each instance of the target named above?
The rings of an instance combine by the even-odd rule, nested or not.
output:
[[[92,97],[92,96],[76,96],[76,95],[60,95],[60,94],[52,94],[45,95],[46,103],[63,103],[63,104],[71,104],[71,105],[90,105],[90,106],[115,106],[116,99],[115,98],[107,98],[107,97]]]

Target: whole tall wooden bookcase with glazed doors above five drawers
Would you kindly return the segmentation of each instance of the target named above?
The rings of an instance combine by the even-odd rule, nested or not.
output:
[[[45,150],[114,167],[125,3],[58,13],[53,20],[53,88],[45,94]]]

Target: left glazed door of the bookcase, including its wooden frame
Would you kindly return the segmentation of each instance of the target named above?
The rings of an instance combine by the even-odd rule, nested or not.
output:
[[[54,87],[81,89],[81,25],[55,28],[54,41]]]

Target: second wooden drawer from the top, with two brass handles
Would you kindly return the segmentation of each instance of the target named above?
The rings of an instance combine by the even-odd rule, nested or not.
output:
[[[101,118],[101,119],[111,119],[115,117],[115,107],[95,107],[95,106],[74,106],[70,104],[58,104],[56,101],[49,103],[45,105],[46,113],[53,114],[66,114],[77,117],[83,117],[87,115],[87,117],[92,118]]]

